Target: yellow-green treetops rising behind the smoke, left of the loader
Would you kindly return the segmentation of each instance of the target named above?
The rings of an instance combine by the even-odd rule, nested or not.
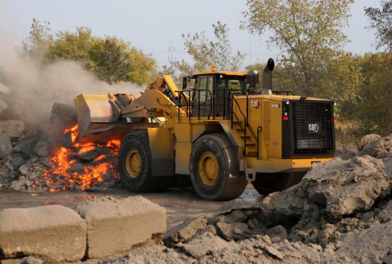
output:
[[[83,68],[108,83],[130,81],[143,84],[157,76],[156,62],[151,56],[115,36],[93,36],[91,29],[60,31],[53,36],[48,23],[33,19],[30,36],[22,51],[44,64],[67,59],[79,61]]]

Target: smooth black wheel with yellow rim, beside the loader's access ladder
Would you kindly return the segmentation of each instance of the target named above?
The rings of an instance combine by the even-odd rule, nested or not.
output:
[[[198,196],[205,200],[231,200],[247,186],[239,160],[226,136],[213,133],[199,138],[190,154],[190,178]]]

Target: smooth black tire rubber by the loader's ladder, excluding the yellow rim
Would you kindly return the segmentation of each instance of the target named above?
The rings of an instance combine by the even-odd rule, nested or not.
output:
[[[205,151],[214,153],[220,165],[217,182],[212,186],[203,183],[198,169],[200,156]],[[190,179],[197,195],[205,200],[232,200],[247,187],[247,178],[239,171],[237,148],[232,147],[222,133],[207,134],[197,139],[190,153]]]

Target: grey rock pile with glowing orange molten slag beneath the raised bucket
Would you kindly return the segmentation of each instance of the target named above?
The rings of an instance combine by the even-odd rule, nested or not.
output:
[[[0,188],[41,192],[120,186],[115,170],[118,144],[73,144],[72,131],[63,131],[75,124],[73,108],[60,103],[53,104],[51,131],[45,133],[21,120],[1,120]]]

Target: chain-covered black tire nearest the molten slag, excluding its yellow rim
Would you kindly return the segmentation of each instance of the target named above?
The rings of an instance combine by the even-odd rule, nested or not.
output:
[[[125,167],[130,148],[138,151],[142,165],[138,177],[131,177]],[[152,158],[147,131],[135,131],[123,138],[118,153],[118,172],[124,186],[134,193],[163,191],[170,183],[170,176],[152,176]]]

